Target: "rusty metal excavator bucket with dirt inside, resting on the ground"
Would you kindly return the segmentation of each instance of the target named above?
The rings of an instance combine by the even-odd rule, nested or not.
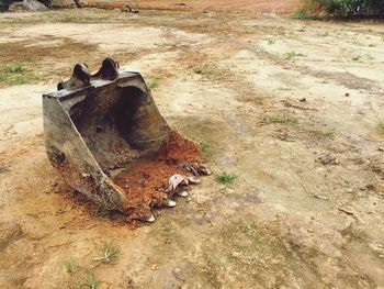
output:
[[[59,175],[129,220],[154,221],[153,208],[173,207],[178,193],[187,194],[180,188],[208,174],[199,144],[167,124],[143,76],[120,73],[112,58],[94,75],[77,64],[69,80],[43,96],[43,112],[47,155]]]

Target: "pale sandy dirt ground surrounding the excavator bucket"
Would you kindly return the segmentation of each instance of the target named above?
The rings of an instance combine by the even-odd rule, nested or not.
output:
[[[25,82],[0,81],[0,288],[384,288],[383,40],[250,12],[0,14],[1,71]],[[150,225],[87,203],[45,154],[42,93],[105,56],[214,173]]]

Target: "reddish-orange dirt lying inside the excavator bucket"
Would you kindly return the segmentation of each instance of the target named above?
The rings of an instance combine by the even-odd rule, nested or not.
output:
[[[174,174],[191,176],[180,164],[201,164],[199,144],[172,131],[169,141],[157,155],[139,159],[114,178],[127,197],[127,210],[132,218],[147,215],[150,208],[161,207],[172,198],[168,192],[169,178]]]

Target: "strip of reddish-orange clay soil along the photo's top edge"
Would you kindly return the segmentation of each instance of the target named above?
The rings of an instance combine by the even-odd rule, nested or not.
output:
[[[138,4],[136,7],[134,3]],[[156,10],[207,10],[233,11],[247,10],[262,13],[293,13],[301,7],[301,0],[140,0],[140,1],[87,1],[90,7],[123,8],[125,3],[132,8]]]

